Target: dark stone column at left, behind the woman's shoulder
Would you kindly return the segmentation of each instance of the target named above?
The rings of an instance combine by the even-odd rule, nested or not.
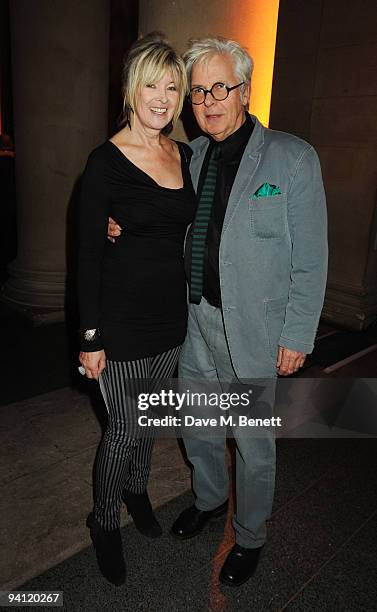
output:
[[[109,3],[11,0],[10,13],[19,248],[2,297],[56,318],[68,206],[107,133]]]

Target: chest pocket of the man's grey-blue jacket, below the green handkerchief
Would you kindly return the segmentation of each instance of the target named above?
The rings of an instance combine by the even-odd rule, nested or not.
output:
[[[251,235],[256,240],[282,238],[285,225],[286,195],[250,200]]]

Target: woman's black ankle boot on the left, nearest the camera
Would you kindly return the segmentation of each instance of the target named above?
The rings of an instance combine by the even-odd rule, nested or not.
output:
[[[90,537],[96,551],[98,567],[101,574],[115,586],[126,581],[126,564],[123,557],[122,539],[119,529],[106,531],[94,518],[91,512],[86,519]]]

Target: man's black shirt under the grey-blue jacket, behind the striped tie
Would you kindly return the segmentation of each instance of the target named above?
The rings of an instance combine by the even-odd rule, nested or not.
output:
[[[204,256],[203,296],[213,306],[221,306],[219,277],[219,247],[229,195],[233,187],[238,167],[245,147],[254,129],[254,123],[246,113],[246,120],[238,130],[221,142],[210,137],[210,145],[204,158],[198,183],[198,199],[207,173],[211,150],[215,143],[220,145],[220,159],[217,167],[215,198],[208,225]]]

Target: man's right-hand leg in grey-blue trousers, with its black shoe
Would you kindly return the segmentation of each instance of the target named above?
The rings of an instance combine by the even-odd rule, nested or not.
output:
[[[238,392],[239,395],[248,393],[252,398],[248,417],[271,417],[275,380],[237,379],[223,321],[220,320],[212,354],[223,391]],[[252,394],[249,389],[252,389]],[[258,395],[256,400],[253,395]],[[240,411],[231,412],[237,423]],[[230,586],[239,586],[253,575],[266,539],[266,519],[270,516],[274,493],[275,440],[273,432],[267,429],[257,432],[248,427],[234,426],[232,429],[236,442],[237,509],[233,516],[236,544],[225,560],[220,580]]]

